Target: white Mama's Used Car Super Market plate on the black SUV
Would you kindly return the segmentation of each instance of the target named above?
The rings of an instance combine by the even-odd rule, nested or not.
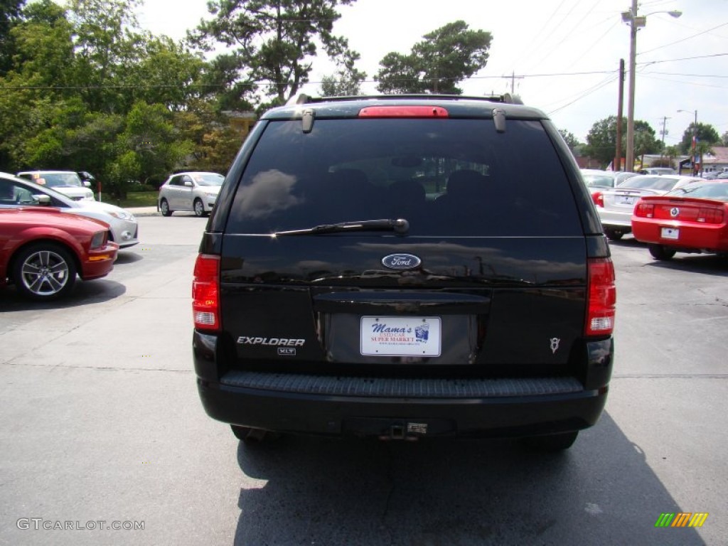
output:
[[[362,355],[440,356],[440,317],[362,317]]]

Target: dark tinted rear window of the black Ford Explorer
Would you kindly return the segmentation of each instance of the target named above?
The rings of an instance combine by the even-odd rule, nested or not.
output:
[[[317,119],[310,133],[300,120],[269,122],[227,230],[379,218],[405,218],[410,236],[583,234],[542,124],[508,120],[499,133],[491,119]]]

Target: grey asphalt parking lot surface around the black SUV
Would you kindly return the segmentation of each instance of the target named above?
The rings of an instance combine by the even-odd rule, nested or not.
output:
[[[614,379],[563,454],[512,440],[244,446],[205,415],[192,372],[205,219],[149,209],[135,210],[141,244],[66,301],[0,291],[0,545],[727,543],[725,261],[612,244]],[[655,528],[679,512],[709,516]]]

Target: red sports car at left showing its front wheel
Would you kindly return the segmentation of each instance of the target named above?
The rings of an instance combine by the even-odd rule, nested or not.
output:
[[[0,285],[13,282],[28,298],[65,296],[76,274],[104,277],[118,250],[101,221],[50,207],[0,210]]]

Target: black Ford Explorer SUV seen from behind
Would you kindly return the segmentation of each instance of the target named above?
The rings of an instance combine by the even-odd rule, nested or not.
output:
[[[266,432],[571,446],[612,373],[614,269],[545,114],[299,98],[223,183],[194,269],[207,414]]]

